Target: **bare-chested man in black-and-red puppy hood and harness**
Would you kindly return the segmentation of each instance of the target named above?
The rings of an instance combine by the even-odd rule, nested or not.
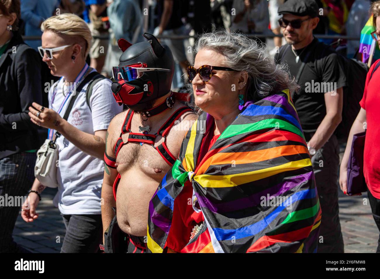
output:
[[[106,252],[146,251],[149,201],[178,158],[187,132],[181,127],[196,118],[179,102],[187,95],[170,90],[171,50],[153,35],[144,37],[148,41],[134,45],[119,39],[123,54],[112,67],[116,102],[129,109],[112,119],[106,134],[101,192]]]

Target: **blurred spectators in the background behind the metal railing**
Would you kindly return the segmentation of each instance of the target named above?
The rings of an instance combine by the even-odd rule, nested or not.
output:
[[[176,74],[173,88],[184,85],[181,79],[188,61],[192,61],[193,40],[170,39],[175,36],[197,36],[217,28],[233,32],[257,35],[264,43],[268,37],[281,35],[279,5],[286,0],[21,0],[20,32],[25,36],[42,35],[40,25],[44,19],[60,13],[74,13],[90,27],[92,47],[90,66],[99,73],[111,77],[111,67],[119,61],[121,51],[117,39],[125,38],[131,43],[143,40],[141,33],[163,36],[163,42],[173,51]],[[371,0],[317,0],[320,21],[314,34],[347,35],[359,38],[361,28],[369,17]],[[326,44],[337,39],[320,39]],[[37,50],[40,39],[26,40]],[[274,56],[285,43],[274,37]],[[359,40],[342,40],[342,52],[353,57]],[[346,47],[347,44],[347,47]],[[182,71],[181,71],[182,70]]]

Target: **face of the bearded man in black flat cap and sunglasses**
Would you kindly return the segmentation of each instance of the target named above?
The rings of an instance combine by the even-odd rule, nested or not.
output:
[[[309,16],[295,16],[294,14],[284,14],[283,19],[291,21],[295,19],[306,20]],[[281,27],[282,33],[288,44],[298,44],[310,36],[310,32],[317,26],[318,17],[302,22],[301,28],[293,28],[290,24],[287,27]]]

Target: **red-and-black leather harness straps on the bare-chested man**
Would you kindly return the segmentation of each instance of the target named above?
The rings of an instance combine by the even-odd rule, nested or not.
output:
[[[188,112],[188,111],[191,111],[191,109],[189,107],[181,107],[181,108],[177,109],[171,115],[171,117],[169,117],[168,120],[166,120],[166,122],[161,126],[161,128],[158,129],[158,132],[153,135],[153,134],[142,134],[142,133],[131,132],[130,127],[131,127],[131,122],[132,122],[132,117],[133,117],[133,111],[128,110],[128,113],[125,116],[125,119],[123,122],[120,137],[119,137],[119,139],[117,139],[115,146],[114,146],[114,152],[115,152],[114,161],[112,161],[113,158],[110,158],[105,154],[105,162],[106,162],[107,166],[108,166],[108,164],[110,164],[111,165],[110,167],[112,167],[112,165],[113,165],[113,167],[115,168],[115,162],[116,162],[117,154],[119,154],[119,151],[122,148],[122,146],[127,144],[128,142],[144,142],[144,143],[148,143],[148,144],[152,145],[152,147],[154,147],[158,151],[158,153],[165,160],[165,162],[167,162],[169,164],[169,166],[173,166],[177,157],[174,156],[169,151],[169,149],[166,145],[166,135],[168,134],[170,129],[173,127],[176,120],[178,120],[182,114],[184,114],[185,112]],[[127,132],[129,132],[128,140],[127,140],[127,142],[123,142],[122,135],[126,134]],[[164,137],[164,141],[163,141],[163,143],[161,143],[160,145],[155,147],[154,141],[155,141],[157,135]],[[106,161],[106,159],[107,159],[107,161]],[[121,178],[121,176],[119,173],[117,175],[115,182],[114,182],[114,185],[112,187],[115,200],[116,200],[117,186],[119,185],[120,178]]]

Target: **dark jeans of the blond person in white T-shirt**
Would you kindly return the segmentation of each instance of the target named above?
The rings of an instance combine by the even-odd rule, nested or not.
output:
[[[101,214],[62,215],[66,226],[61,253],[97,253],[103,242]]]

